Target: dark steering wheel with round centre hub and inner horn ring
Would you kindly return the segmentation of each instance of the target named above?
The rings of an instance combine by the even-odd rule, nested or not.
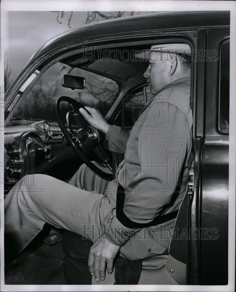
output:
[[[66,114],[66,122],[70,129],[70,133],[62,120],[60,103],[62,101],[68,102],[70,105],[70,111]],[[95,166],[89,159],[94,157],[99,157],[99,159],[104,163],[107,168],[113,173],[112,166],[110,163],[110,159],[105,152],[104,148],[101,146],[101,134],[95,128],[89,126],[88,122],[79,112],[80,108],[83,108],[87,111],[85,107],[83,107],[79,102],[74,100],[73,98],[67,96],[61,96],[56,100],[55,103],[55,111],[58,124],[61,128],[61,131],[67,140],[68,144],[72,147],[75,153],[82,159],[82,161],[91,168],[95,173],[97,173],[102,178],[107,180],[113,180],[113,174],[106,173],[102,171],[100,168]],[[87,111],[88,112],[88,111]],[[89,112],[88,112],[89,113]],[[78,130],[74,131],[71,125],[71,120],[74,119],[75,123],[78,126]]]

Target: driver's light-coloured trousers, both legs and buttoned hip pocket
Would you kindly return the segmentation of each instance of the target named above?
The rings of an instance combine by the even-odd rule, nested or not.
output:
[[[85,165],[69,183],[42,174],[19,180],[4,202],[7,261],[14,260],[45,223],[96,240],[106,215],[115,207],[103,194],[109,184],[113,182],[102,179]],[[163,254],[170,238],[160,244],[148,235],[148,229],[143,228],[121,247],[121,255],[137,260]]]

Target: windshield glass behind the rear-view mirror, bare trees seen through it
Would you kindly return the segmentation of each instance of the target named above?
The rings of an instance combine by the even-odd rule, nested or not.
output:
[[[61,85],[62,76],[67,74],[70,66],[60,62],[51,66],[37,81],[23,100],[21,113],[23,119],[45,119],[56,121],[54,112],[55,101],[60,96],[68,96],[80,102],[83,106],[95,107],[105,116],[115,100],[119,86],[106,77],[74,68],[70,75],[85,77],[84,89],[71,89]],[[70,110],[68,104],[62,104],[62,112]],[[67,110],[68,107],[68,110]]]

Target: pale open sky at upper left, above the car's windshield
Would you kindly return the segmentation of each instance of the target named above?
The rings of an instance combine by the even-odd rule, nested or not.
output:
[[[60,14],[61,15],[61,14]],[[57,13],[50,11],[5,11],[4,13],[4,59],[11,67],[11,78],[23,70],[33,53],[47,40],[66,31],[70,11],[56,20]],[[73,12],[71,27],[85,24],[87,11]]]

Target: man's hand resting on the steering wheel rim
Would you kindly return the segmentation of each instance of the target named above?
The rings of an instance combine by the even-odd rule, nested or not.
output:
[[[85,109],[80,108],[79,111],[83,115],[83,117],[86,119],[86,121],[94,128],[102,131],[106,134],[109,124],[106,122],[102,114],[99,112],[98,109],[95,109],[93,107],[85,107],[90,114],[86,112]]]

